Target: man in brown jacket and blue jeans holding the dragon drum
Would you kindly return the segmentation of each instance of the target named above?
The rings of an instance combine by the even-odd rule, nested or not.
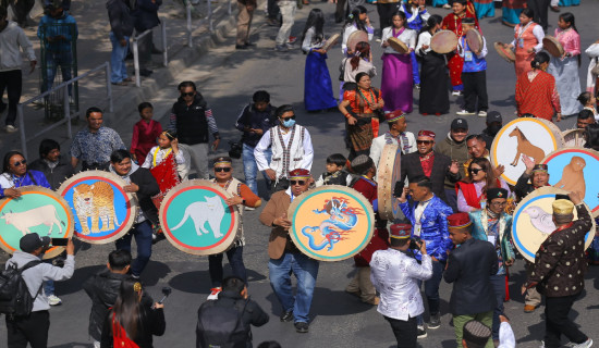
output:
[[[291,240],[289,229],[292,222],[288,210],[294,198],[308,190],[311,183],[310,172],[296,169],[289,173],[290,188],[272,194],[272,197],[260,213],[260,222],[272,227],[268,243],[268,270],[270,286],[283,307],[282,322],[294,321],[295,331],[308,332],[309,311],[318,261],[308,258]],[[291,287],[291,274],[297,279],[296,296]]]

